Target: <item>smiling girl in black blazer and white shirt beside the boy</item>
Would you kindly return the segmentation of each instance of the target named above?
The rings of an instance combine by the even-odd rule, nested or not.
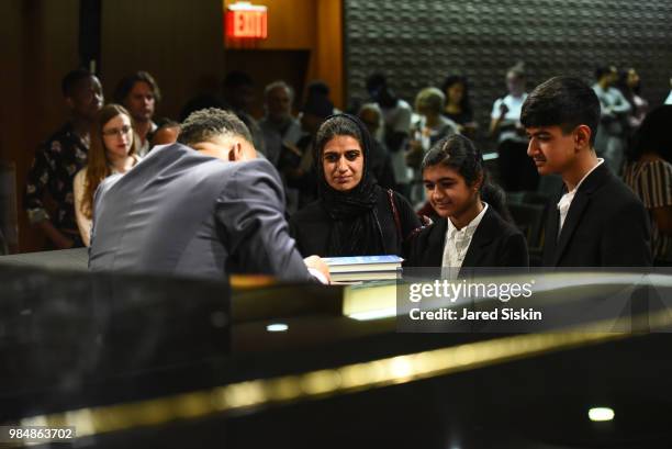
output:
[[[440,218],[411,239],[406,267],[529,265],[525,237],[511,224],[504,194],[488,182],[483,158],[471,141],[452,135],[437,142],[425,155],[422,172]]]

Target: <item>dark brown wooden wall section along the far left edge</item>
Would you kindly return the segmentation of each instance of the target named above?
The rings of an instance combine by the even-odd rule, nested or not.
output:
[[[23,211],[25,175],[40,142],[66,120],[60,79],[78,65],[79,0],[0,3],[2,42],[9,43],[0,147],[16,169],[20,249],[38,250],[44,237],[27,226]]]

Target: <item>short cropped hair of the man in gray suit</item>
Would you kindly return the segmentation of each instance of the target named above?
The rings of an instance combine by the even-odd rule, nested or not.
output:
[[[233,112],[216,108],[192,112],[182,123],[178,142],[191,146],[221,135],[239,136],[253,144],[251,134],[245,123]]]

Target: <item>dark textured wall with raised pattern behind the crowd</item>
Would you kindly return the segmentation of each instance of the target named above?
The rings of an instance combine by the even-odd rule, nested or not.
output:
[[[351,98],[366,98],[372,70],[385,71],[410,102],[460,72],[483,125],[516,60],[527,64],[530,89],[560,74],[592,82],[597,65],[616,64],[638,69],[652,104],[670,90],[669,0],[345,0],[345,27]]]

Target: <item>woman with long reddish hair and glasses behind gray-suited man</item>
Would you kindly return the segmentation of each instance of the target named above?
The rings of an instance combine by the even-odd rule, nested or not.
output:
[[[103,179],[125,173],[139,160],[133,120],[119,104],[108,104],[98,113],[91,130],[88,165],[75,176],[75,215],[79,234],[90,245],[93,194]]]

